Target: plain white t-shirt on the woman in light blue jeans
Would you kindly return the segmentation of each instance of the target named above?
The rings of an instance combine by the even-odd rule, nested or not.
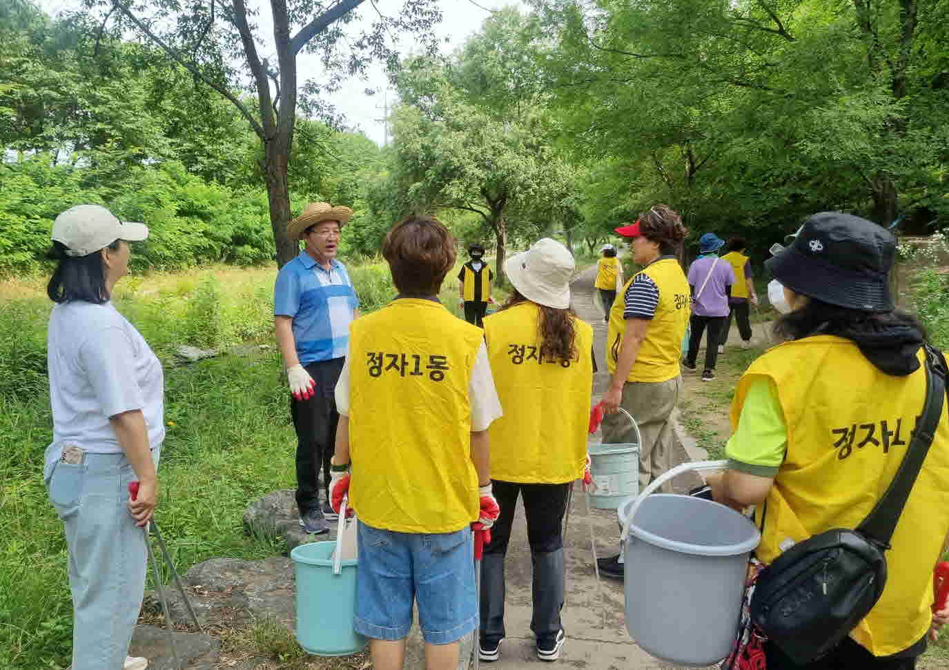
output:
[[[91,454],[121,452],[109,418],[140,409],[148,443],[165,437],[164,373],[135,326],[112,303],[53,307],[47,334],[53,442]]]

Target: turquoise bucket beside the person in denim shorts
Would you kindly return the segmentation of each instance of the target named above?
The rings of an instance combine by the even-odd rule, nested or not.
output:
[[[317,656],[346,656],[361,651],[366,639],[353,630],[356,565],[341,561],[333,574],[336,542],[312,542],[290,551],[296,572],[297,642]]]

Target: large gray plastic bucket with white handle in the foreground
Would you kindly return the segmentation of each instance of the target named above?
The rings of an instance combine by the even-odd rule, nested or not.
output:
[[[648,495],[681,472],[724,465],[679,466],[620,511],[626,630],[661,661],[714,665],[735,643],[748,559],[761,534],[724,505],[688,495]]]

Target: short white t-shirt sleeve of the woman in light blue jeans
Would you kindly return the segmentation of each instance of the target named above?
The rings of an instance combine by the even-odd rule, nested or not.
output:
[[[79,348],[79,362],[105,417],[144,407],[135,377],[135,349],[121,327],[90,333]]]

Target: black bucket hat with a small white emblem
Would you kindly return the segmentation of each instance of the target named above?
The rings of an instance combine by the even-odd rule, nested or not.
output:
[[[814,214],[791,246],[765,261],[774,278],[796,293],[829,305],[889,311],[893,309],[888,274],[896,238],[860,216],[840,212]]]

